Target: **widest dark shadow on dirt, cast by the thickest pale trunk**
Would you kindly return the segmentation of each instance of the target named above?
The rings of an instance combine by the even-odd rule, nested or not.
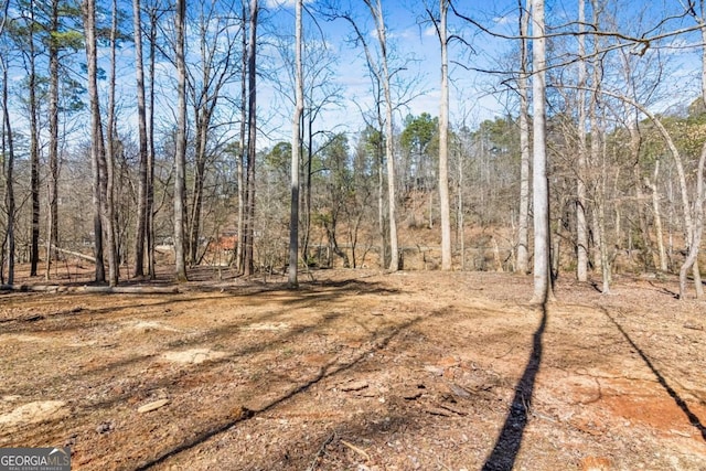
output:
[[[530,360],[522,378],[515,386],[515,396],[510,405],[507,417],[495,441],[493,451],[483,464],[483,471],[512,470],[515,464],[524,431],[527,427],[527,415],[532,406],[534,385],[542,363],[542,338],[547,325],[547,304],[542,304],[542,321],[532,336]]]

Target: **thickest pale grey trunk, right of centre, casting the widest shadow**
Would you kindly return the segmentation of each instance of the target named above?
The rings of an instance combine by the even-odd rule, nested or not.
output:
[[[546,154],[546,38],[544,0],[532,1],[532,77],[533,90],[533,203],[534,203],[534,295],[533,302],[553,298],[550,279],[552,244],[549,239],[549,185]]]

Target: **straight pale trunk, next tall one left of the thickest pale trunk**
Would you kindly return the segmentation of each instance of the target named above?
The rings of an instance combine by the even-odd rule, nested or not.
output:
[[[449,57],[447,17],[449,0],[440,0],[441,105],[439,110],[439,212],[441,213],[441,269],[451,269],[451,208],[449,202]]]

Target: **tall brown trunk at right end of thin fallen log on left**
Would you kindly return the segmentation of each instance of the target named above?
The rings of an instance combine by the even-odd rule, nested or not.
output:
[[[90,98],[90,162],[93,170],[93,205],[94,205],[94,256],[96,259],[95,281],[105,282],[106,272],[103,261],[103,182],[105,182],[105,149],[103,141],[103,124],[98,101],[98,64],[96,44],[96,4],[94,0],[83,2],[84,30],[86,34],[86,62],[88,72],[88,96]],[[49,266],[49,263],[47,263]]]

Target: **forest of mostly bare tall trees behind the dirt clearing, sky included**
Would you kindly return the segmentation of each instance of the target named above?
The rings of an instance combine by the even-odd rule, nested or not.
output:
[[[703,295],[700,2],[300,3],[4,0],[2,282],[79,257],[111,286],[335,266]]]

